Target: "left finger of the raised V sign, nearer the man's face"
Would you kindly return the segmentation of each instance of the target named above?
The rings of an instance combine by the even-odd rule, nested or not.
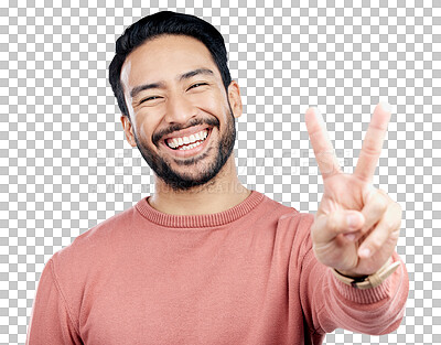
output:
[[[304,121],[323,181],[326,177],[341,173],[334,148],[327,136],[326,127],[319,109],[309,108],[304,115]]]

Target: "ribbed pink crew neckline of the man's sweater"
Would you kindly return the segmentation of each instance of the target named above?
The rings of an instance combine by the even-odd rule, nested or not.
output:
[[[229,209],[211,215],[189,216],[170,215],[159,212],[150,206],[150,204],[148,203],[149,197],[150,196],[139,201],[136,205],[136,208],[143,217],[146,217],[150,222],[172,228],[201,228],[228,224],[240,218],[241,216],[245,216],[262,202],[265,195],[257,191],[251,191],[251,194],[245,201]]]

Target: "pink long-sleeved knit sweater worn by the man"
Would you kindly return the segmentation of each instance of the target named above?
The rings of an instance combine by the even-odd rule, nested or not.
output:
[[[321,344],[336,327],[395,331],[405,266],[375,289],[345,285],[315,259],[312,222],[255,191],[213,215],[141,200],[49,260],[26,344]]]

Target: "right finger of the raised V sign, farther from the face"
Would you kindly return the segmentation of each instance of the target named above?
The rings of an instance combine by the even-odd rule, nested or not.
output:
[[[387,125],[390,121],[390,112],[391,107],[387,103],[379,103],[375,107],[354,173],[364,181],[372,182],[373,180],[381,153]]]

